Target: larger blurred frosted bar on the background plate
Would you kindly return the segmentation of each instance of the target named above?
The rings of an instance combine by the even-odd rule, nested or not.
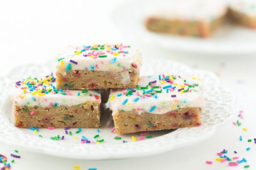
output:
[[[158,11],[151,10],[145,22],[149,31],[193,37],[208,37],[227,13],[222,0],[166,0],[154,7]]]

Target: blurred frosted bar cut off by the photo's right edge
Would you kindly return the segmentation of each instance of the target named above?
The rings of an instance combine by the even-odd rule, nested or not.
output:
[[[256,29],[256,1],[233,0],[230,3],[229,17],[234,23]]]

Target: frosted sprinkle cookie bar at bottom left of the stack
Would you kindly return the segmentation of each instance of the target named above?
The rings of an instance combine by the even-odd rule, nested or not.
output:
[[[17,127],[99,127],[101,94],[55,88],[55,78],[16,82],[11,100]]]

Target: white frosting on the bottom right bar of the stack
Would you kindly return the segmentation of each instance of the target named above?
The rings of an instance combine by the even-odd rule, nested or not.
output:
[[[148,85],[148,82],[157,80],[156,85],[160,85],[161,88],[155,88],[155,90],[162,89],[162,93],[155,93],[151,97],[143,95],[143,90],[137,90],[132,95],[126,96],[123,94],[123,92],[127,92],[127,90],[117,90],[113,91],[110,94],[110,108],[112,109],[112,115],[118,113],[120,110],[124,111],[131,111],[133,109],[137,110],[138,113],[143,112],[150,112],[154,114],[164,114],[169,111],[178,109],[178,108],[194,108],[199,107],[201,108],[201,111],[205,108],[205,102],[204,99],[201,96],[201,82],[193,78],[179,78],[176,77],[176,79],[173,79],[173,82],[165,82],[161,84],[158,76],[149,76],[149,77],[140,77],[138,85],[145,87]],[[189,88],[188,92],[182,93],[181,91],[178,91],[178,89],[184,87],[186,90],[188,88],[188,85],[184,85],[184,80],[186,80],[186,83],[189,85],[194,85],[194,87]],[[162,81],[163,82],[163,81]],[[177,83],[177,85],[176,85]],[[195,86],[196,84],[199,84],[198,86]],[[172,88],[175,86],[175,90],[171,91],[171,88],[169,89],[169,92],[166,92],[166,89],[164,89],[165,86],[172,85]],[[181,85],[181,86],[180,86]],[[145,89],[145,91],[150,90],[151,87],[148,85],[148,89]],[[139,96],[137,94],[139,92]],[[121,96],[118,96],[118,94],[122,94]],[[154,96],[157,95],[157,98]],[[172,95],[176,95],[176,97],[172,97]],[[134,99],[139,98],[137,102],[134,101]],[[128,99],[128,101],[123,105],[123,102]],[[153,107],[155,109],[153,111],[150,111]]]

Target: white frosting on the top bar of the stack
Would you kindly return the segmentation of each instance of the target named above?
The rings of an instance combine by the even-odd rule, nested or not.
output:
[[[93,48],[98,48],[98,50]],[[78,52],[75,53],[75,51]],[[92,53],[93,55],[91,55]],[[101,56],[107,57],[101,58]],[[113,61],[114,58],[116,58],[115,62]],[[77,64],[70,62],[70,59],[77,62]],[[68,70],[94,70],[111,72],[119,72],[124,70],[138,71],[141,65],[141,60],[142,54],[140,51],[122,44],[117,46],[105,44],[104,49],[100,49],[100,46],[97,45],[91,45],[90,48],[85,46],[69,46],[58,55],[58,60],[55,67],[56,71],[63,75],[66,74],[69,63],[71,64],[71,67]]]

